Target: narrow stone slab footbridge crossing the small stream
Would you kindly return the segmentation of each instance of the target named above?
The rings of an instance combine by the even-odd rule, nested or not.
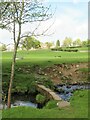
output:
[[[44,85],[37,85],[37,91],[46,96],[48,100],[56,100],[57,106],[59,108],[68,107],[70,103],[67,101],[62,100],[54,91],[49,88],[46,88]]]

